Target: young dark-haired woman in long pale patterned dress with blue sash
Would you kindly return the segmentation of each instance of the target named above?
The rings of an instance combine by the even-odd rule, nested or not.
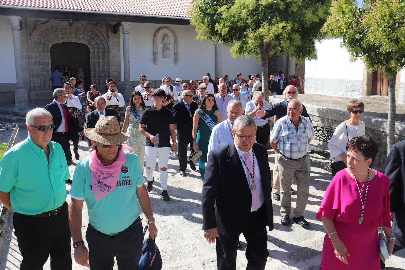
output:
[[[146,106],[143,102],[142,94],[139,91],[134,91],[131,95],[130,106],[125,110],[124,124],[122,131],[125,132],[128,127],[127,133],[130,138],[127,140],[127,145],[134,149],[134,154],[139,157],[141,168],[143,172],[143,164],[145,163],[145,136],[139,132],[139,121],[141,115],[145,111]]]

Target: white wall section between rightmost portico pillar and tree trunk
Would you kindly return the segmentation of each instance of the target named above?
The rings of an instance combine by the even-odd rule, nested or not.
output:
[[[230,49],[231,47],[222,46],[222,70],[224,73],[222,76],[228,74],[229,79],[233,80],[238,72],[242,73],[243,79],[249,79],[249,74],[262,74],[262,63],[257,62],[253,55],[248,59],[246,57],[232,58]],[[214,77],[213,73],[211,73],[211,77]]]

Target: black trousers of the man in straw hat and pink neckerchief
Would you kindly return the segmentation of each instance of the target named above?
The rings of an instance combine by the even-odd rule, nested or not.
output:
[[[134,223],[141,221],[136,219]],[[143,230],[139,222],[117,237],[108,237],[94,229],[89,223],[86,240],[89,245],[89,263],[91,270],[113,270],[114,257],[118,270],[138,270],[141,258]]]

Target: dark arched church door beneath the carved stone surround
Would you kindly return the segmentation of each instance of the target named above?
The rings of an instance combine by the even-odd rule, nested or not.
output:
[[[51,66],[59,66],[63,72],[64,66],[68,65],[70,77],[76,77],[77,69],[83,68],[84,90],[90,89],[90,50],[87,45],[75,42],[56,43],[51,47]]]

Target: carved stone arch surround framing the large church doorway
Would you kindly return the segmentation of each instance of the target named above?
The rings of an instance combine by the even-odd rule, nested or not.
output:
[[[92,83],[104,85],[110,75],[110,47],[107,36],[100,25],[93,26],[87,21],[68,21],[51,19],[47,23],[36,22],[36,28],[30,37],[28,54],[30,56],[30,88],[52,89],[49,77],[51,67],[51,46],[56,43],[83,43],[90,50],[90,78]],[[35,91],[35,90],[34,90]]]

